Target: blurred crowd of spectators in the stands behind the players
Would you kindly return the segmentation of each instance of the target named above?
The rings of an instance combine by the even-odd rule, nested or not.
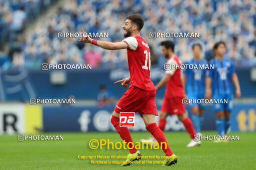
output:
[[[102,50],[58,32],[107,32],[101,40],[121,41],[126,15],[145,19],[142,36],[151,47],[152,65],[163,67],[160,42],[149,32],[199,32],[200,38],[174,38],[182,61],[192,58],[191,44],[203,44],[207,60],[213,43],[227,44],[226,56],[236,66],[256,65],[254,0],[0,0],[0,68],[41,68],[41,63],[89,63],[93,68],[127,66],[126,50]],[[48,8],[54,12],[48,13]],[[38,19],[46,15],[46,21]],[[27,31],[29,30],[29,31]]]

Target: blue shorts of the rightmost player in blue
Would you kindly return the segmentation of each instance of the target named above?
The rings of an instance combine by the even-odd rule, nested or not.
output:
[[[214,95],[213,99],[218,100],[218,103],[214,103],[215,111],[231,111],[233,108],[233,95],[224,94],[224,95]]]

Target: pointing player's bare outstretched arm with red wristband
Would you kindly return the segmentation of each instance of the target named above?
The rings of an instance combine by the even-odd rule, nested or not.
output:
[[[82,32],[85,33],[83,29],[82,29]],[[110,49],[110,50],[125,49],[128,47],[125,42],[107,42],[107,41],[92,39],[89,36],[86,36],[86,37],[82,36],[79,41],[85,42],[85,43],[92,43],[94,45],[100,46],[101,48]]]

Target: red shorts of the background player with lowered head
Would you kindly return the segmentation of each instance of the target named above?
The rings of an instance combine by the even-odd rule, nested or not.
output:
[[[182,104],[182,98],[184,97],[164,97],[161,111],[176,115],[185,113],[186,109]]]

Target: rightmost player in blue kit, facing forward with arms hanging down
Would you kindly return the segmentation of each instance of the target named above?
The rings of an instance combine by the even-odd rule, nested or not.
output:
[[[230,127],[230,111],[232,109],[232,81],[235,86],[235,95],[241,96],[238,77],[235,73],[233,61],[224,58],[226,45],[220,41],[214,44],[213,50],[215,58],[210,61],[214,65],[213,69],[207,71],[205,97],[222,100],[221,103],[215,103],[214,109],[217,113],[216,127],[219,135],[226,135]],[[224,102],[224,101],[227,102]]]

